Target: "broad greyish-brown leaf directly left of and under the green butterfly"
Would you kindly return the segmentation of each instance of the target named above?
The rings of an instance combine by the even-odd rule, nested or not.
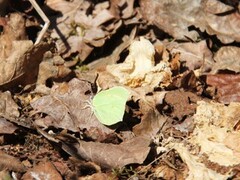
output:
[[[87,81],[74,78],[69,83],[54,85],[50,95],[31,103],[36,112],[48,115],[35,123],[74,132],[86,129],[91,132],[92,138],[104,139],[113,130],[101,124],[94,116],[89,104],[91,96],[91,84]]]

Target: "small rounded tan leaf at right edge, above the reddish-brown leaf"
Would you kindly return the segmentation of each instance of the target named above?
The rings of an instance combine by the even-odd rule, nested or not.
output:
[[[216,74],[221,70],[240,72],[240,48],[235,46],[221,47],[214,55],[215,63],[211,73]]]

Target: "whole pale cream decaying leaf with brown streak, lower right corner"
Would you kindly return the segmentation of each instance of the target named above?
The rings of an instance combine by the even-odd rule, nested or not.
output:
[[[240,165],[239,103],[225,106],[220,103],[198,101],[193,116],[195,128],[185,142],[171,142],[187,164],[187,179],[227,179],[233,175],[233,167]],[[188,148],[191,146],[191,149]],[[211,166],[209,166],[211,164]]]

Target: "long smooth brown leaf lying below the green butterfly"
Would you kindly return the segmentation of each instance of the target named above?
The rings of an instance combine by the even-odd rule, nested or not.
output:
[[[78,154],[106,168],[120,168],[127,164],[141,164],[146,159],[150,138],[137,136],[119,145],[80,141]]]

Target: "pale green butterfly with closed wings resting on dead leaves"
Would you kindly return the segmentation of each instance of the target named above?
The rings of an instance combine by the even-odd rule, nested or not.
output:
[[[93,112],[97,119],[107,126],[121,122],[129,95],[129,91],[120,86],[97,93],[92,100]]]

